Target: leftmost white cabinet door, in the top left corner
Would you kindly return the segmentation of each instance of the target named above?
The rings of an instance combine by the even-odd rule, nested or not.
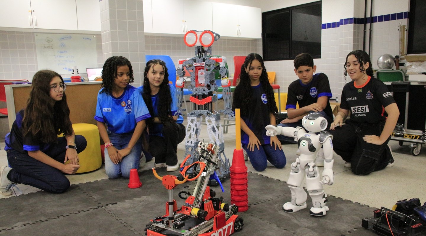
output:
[[[29,0],[0,0],[0,27],[32,28]]]

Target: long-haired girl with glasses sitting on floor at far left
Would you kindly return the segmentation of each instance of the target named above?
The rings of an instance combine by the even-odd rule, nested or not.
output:
[[[52,70],[40,70],[32,79],[26,107],[16,114],[5,137],[9,165],[0,167],[0,193],[11,195],[17,183],[51,193],[69,188],[65,174],[80,168],[78,153],[86,139],[75,135],[66,103],[66,84]],[[58,138],[59,134],[63,137]]]

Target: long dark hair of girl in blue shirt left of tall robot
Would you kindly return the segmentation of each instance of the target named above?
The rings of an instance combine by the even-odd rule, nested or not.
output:
[[[167,72],[166,63],[160,59],[153,59],[147,62],[147,66],[144,71],[144,90],[142,92],[142,98],[144,98],[145,104],[147,105],[148,111],[153,115],[153,101],[151,100],[151,86],[148,79],[148,72],[154,65],[161,65],[164,69],[164,80],[160,84],[160,91],[158,92],[159,104],[157,107],[158,119],[161,122],[174,121],[172,118],[172,111],[170,105],[172,104],[172,96],[170,96],[169,86],[169,73]],[[148,127],[153,124],[153,119],[147,120]]]

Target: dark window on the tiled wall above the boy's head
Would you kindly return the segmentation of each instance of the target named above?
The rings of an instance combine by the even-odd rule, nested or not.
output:
[[[321,1],[263,12],[262,43],[265,61],[321,58]]]

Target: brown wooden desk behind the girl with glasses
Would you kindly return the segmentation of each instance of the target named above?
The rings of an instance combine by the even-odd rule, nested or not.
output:
[[[102,81],[67,83],[66,100],[70,110],[69,117],[73,124],[95,124],[93,119],[96,112],[98,92]],[[9,129],[16,119],[16,112],[23,109],[31,91],[31,84],[7,84],[6,105],[9,118]]]

